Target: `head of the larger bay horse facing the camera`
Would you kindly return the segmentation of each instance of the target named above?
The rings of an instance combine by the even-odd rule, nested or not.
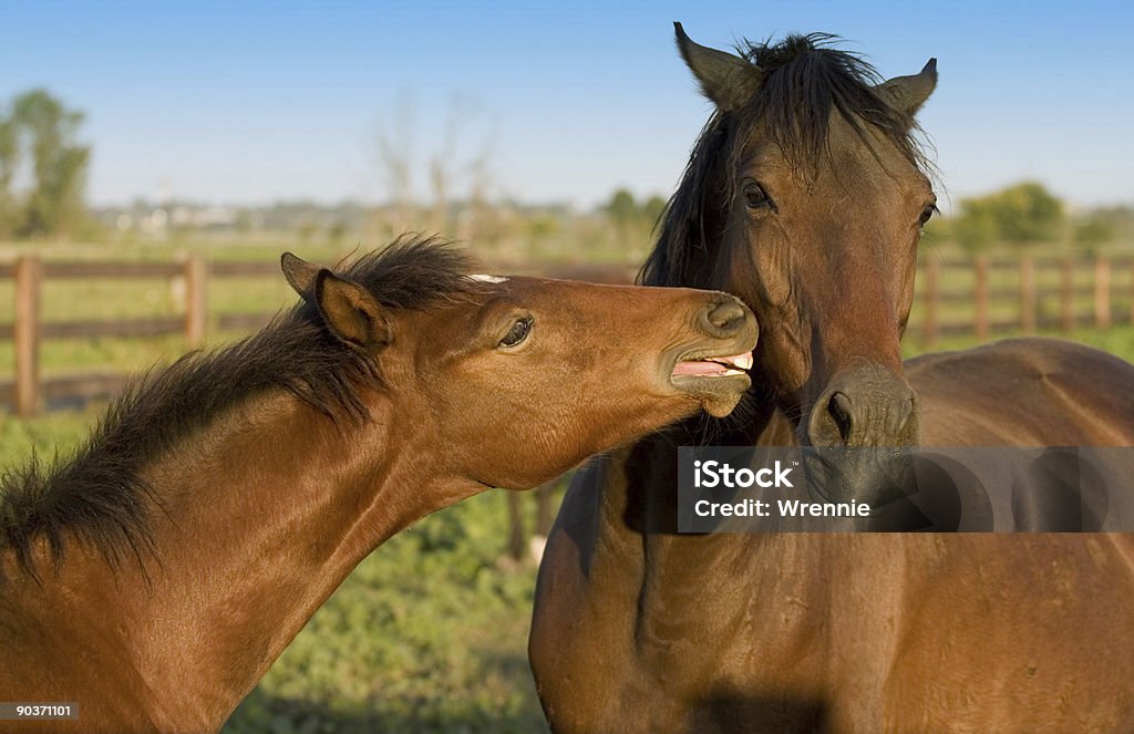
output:
[[[763,378],[814,446],[919,440],[899,338],[936,197],[914,113],[936,62],[881,82],[826,36],[744,56],[678,47],[717,110],[644,270],[645,282],[739,295],[762,326]]]

